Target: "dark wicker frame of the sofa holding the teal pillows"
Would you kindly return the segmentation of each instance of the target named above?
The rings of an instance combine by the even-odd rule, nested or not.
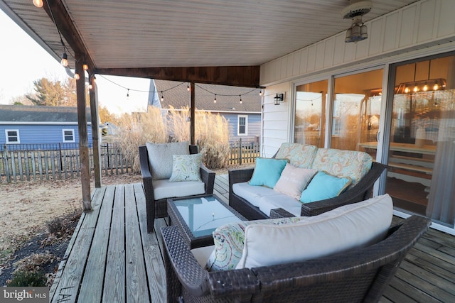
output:
[[[301,216],[316,216],[322,214],[331,209],[336,209],[337,207],[360,202],[371,197],[373,191],[373,185],[375,181],[378,180],[382,171],[385,170],[387,165],[383,165],[379,162],[373,162],[368,173],[363,176],[355,186],[343,194],[340,194],[338,197],[331,199],[325,199],[321,201],[311,202],[311,203],[302,203],[301,204]],[[259,210],[258,207],[253,206],[250,202],[243,199],[240,196],[237,196],[232,192],[232,185],[240,182],[247,182],[251,179],[253,175],[254,168],[247,169],[238,169],[238,170],[229,170],[229,205],[240,212],[248,220],[257,220],[257,219],[268,219],[269,216],[264,214]],[[272,209],[270,217],[283,217],[283,216],[294,216],[284,209]]]

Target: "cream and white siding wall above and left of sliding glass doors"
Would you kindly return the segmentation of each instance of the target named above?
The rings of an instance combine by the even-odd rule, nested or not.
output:
[[[292,141],[294,82],[455,50],[454,15],[453,0],[418,1],[367,22],[367,40],[345,43],[343,31],[262,65],[260,84],[267,87],[263,156],[274,155],[281,143]],[[273,97],[280,92],[286,92],[288,101],[274,106]]]

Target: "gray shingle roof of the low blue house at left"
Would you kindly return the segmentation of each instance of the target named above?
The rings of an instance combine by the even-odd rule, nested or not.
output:
[[[77,123],[77,107],[0,105],[0,122]],[[87,122],[90,122],[90,108]]]

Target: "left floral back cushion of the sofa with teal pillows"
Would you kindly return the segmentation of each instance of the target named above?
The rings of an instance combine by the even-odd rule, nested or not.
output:
[[[275,158],[288,159],[296,167],[311,168],[311,163],[318,148],[314,145],[300,143],[282,143]]]

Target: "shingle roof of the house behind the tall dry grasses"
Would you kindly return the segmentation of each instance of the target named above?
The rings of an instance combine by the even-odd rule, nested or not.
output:
[[[161,107],[168,109],[170,105],[180,109],[190,105],[191,93],[188,92],[187,82],[173,82],[155,80],[156,91],[163,92],[164,101]],[[260,89],[250,87],[229,87],[214,84],[196,84],[196,109],[205,111],[233,111],[233,112],[260,112],[261,98]],[[213,102],[216,96],[216,103]],[[242,94],[242,104],[239,95]],[[234,108],[234,109],[232,109]]]

